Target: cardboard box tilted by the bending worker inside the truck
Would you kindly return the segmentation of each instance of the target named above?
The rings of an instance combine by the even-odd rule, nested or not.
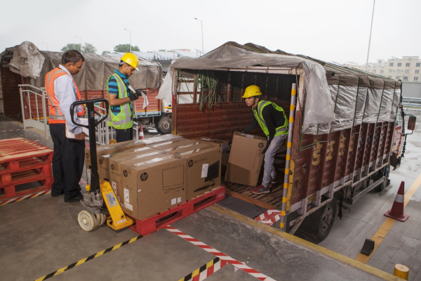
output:
[[[266,138],[260,136],[234,133],[225,181],[256,186],[265,157],[262,155],[262,150],[266,147],[266,143]]]

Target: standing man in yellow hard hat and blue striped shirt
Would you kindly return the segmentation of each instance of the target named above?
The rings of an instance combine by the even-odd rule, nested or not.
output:
[[[133,53],[125,53],[120,60],[119,70],[108,78],[107,93],[109,101],[108,121],[116,129],[116,141],[133,140],[133,101],[141,95],[140,91],[131,91],[128,77],[138,70],[139,59]]]

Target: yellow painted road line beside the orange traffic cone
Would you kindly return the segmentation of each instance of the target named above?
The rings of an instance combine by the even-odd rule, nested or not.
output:
[[[420,187],[421,185],[421,174],[417,177],[413,185],[410,186],[408,191],[405,193],[405,199],[403,202],[403,207],[406,207],[406,204],[410,201],[410,198],[413,197],[415,191]],[[359,261],[360,263],[367,263],[368,260],[373,256],[375,250],[377,247],[379,247],[380,244],[382,244],[383,240],[385,240],[385,237],[387,233],[389,233],[389,230],[392,228],[396,220],[394,218],[386,218],[386,221],[380,226],[380,228],[377,230],[375,235],[371,237],[371,240],[374,241],[374,249],[373,252],[370,254],[370,256],[366,256],[365,254],[359,254],[356,256],[355,260]]]

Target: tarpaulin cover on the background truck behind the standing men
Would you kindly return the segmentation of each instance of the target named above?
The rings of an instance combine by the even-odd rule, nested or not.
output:
[[[11,71],[29,77],[29,84],[37,88],[44,87],[45,77],[48,72],[58,67],[63,53],[39,51],[36,46],[28,41],[19,46],[6,48],[13,52]],[[107,90],[107,79],[119,69],[120,57],[83,53],[85,63],[81,72],[74,75],[80,91]],[[160,63],[139,58],[139,71],[130,77],[134,89],[159,88],[162,84],[162,67]]]

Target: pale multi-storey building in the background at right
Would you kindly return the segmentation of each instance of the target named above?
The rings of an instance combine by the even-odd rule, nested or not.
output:
[[[366,65],[358,63],[344,63],[344,66],[366,70]],[[403,82],[421,82],[421,60],[417,56],[377,60],[377,63],[368,63],[367,71]]]

